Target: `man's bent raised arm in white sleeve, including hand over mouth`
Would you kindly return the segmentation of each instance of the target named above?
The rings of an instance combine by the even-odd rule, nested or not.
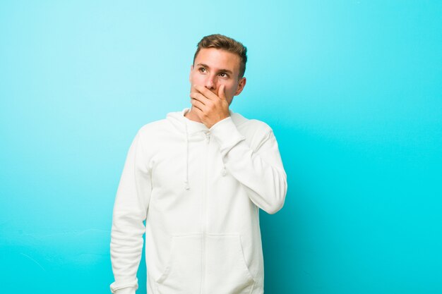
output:
[[[196,92],[191,92],[191,104],[219,143],[226,168],[248,190],[256,206],[269,214],[280,210],[287,192],[287,176],[272,130],[268,128],[258,147],[251,149],[229,117],[225,86],[220,85],[217,95],[200,85],[193,90]]]

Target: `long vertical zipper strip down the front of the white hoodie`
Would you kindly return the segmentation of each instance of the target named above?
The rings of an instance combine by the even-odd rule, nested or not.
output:
[[[205,235],[207,233],[207,171],[208,171],[208,150],[210,145],[210,132],[205,133],[205,157],[204,157],[204,173],[203,173],[203,223],[201,223],[201,231],[203,232],[203,238],[201,238],[202,243],[202,258],[201,258],[201,294],[204,294],[204,288],[205,288],[205,257],[206,257],[206,251],[205,250]]]

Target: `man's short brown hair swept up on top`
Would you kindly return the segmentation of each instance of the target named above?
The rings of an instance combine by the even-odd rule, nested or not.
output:
[[[193,63],[195,63],[196,56],[201,48],[223,49],[225,51],[237,54],[240,59],[239,78],[244,76],[247,62],[247,48],[242,43],[220,34],[205,36],[200,42],[198,42],[195,55],[193,56]]]

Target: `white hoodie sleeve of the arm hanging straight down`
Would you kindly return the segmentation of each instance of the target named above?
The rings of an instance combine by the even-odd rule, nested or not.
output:
[[[129,148],[114,203],[110,243],[115,278],[110,288],[114,294],[135,294],[138,288],[136,273],[143,250],[143,221],[152,188],[147,162],[138,132]]]

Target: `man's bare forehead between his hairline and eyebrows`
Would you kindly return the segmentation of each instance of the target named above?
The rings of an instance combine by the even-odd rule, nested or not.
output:
[[[198,63],[204,63],[215,70],[228,69],[234,73],[238,73],[240,59],[237,54],[223,49],[203,48],[196,56],[195,65]]]

